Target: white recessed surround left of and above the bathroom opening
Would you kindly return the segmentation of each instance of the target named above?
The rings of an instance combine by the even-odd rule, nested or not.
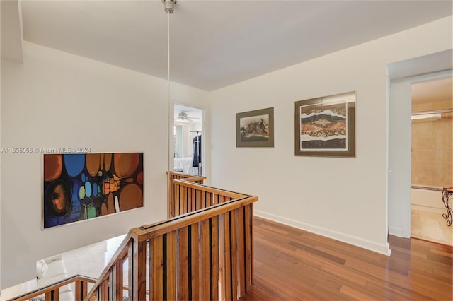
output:
[[[388,234],[411,237],[411,87],[451,78],[453,50],[387,65],[388,87]],[[442,203],[442,200],[438,200]]]

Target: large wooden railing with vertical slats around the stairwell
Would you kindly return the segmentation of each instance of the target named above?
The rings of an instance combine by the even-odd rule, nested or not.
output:
[[[168,177],[176,216],[131,229],[86,300],[237,300],[251,287],[258,197]]]

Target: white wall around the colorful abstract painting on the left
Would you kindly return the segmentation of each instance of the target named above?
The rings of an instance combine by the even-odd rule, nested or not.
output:
[[[38,259],[166,218],[167,81],[24,42],[1,61],[2,147],[144,152],[144,208],[41,230],[42,154],[1,154],[1,285],[35,277]],[[172,83],[171,98],[206,105]]]

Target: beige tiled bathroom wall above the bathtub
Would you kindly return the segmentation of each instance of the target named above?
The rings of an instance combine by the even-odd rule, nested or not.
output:
[[[452,108],[452,100],[413,105],[413,112]],[[412,184],[428,187],[453,185],[452,113],[441,119],[412,122]]]

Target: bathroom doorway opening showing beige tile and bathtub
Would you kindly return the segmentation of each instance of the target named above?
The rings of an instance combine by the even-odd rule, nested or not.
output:
[[[453,245],[442,188],[453,185],[452,77],[411,85],[411,237]]]

